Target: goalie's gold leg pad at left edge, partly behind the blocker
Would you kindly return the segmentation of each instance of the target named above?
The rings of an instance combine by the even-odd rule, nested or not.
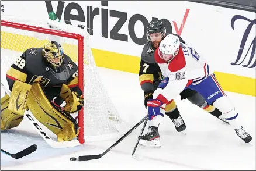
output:
[[[9,95],[1,98],[1,131],[19,126],[23,116],[17,115],[8,109]]]

